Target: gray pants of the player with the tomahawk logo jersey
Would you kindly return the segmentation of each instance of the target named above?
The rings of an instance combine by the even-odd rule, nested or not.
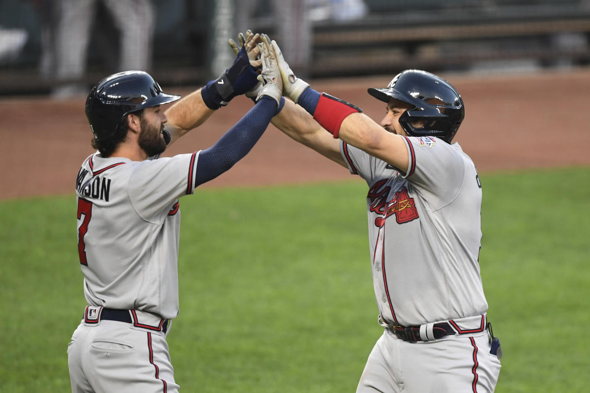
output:
[[[412,343],[385,331],[369,355],[356,392],[491,393],[499,374],[500,361],[490,354],[487,332]]]

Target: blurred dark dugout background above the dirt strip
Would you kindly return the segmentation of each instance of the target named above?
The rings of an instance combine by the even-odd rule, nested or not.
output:
[[[306,78],[585,67],[590,0],[2,0],[0,95],[86,95],[113,72],[204,84],[251,28]]]

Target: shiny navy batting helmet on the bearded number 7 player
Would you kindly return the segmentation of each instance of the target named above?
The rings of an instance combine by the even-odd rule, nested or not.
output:
[[[92,88],[86,99],[86,117],[94,138],[105,140],[114,135],[124,116],[179,98],[180,95],[163,93],[147,72],[118,72]]]

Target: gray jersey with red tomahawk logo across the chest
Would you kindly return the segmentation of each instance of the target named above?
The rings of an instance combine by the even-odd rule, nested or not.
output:
[[[350,169],[369,185],[373,286],[381,318],[404,326],[483,315],[481,185],[457,143],[404,137],[397,169],[340,141]]]

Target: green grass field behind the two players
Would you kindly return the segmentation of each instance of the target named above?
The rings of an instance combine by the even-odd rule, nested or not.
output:
[[[590,168],[481,182],[481,273],[504,352],[496,391],[587,391]],[[358,180],[181,199],[168,341],[182,391],[355,391],[382,332],[365,194]],[[0,391],[67,392],[86,305],[75,198],[0,202],[0,219]]]

